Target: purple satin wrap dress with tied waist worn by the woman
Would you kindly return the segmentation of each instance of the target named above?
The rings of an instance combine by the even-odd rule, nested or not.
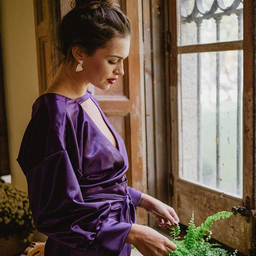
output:
[[[81,106],[89,97],[118,149]],[[124,141],[91,91],[78,100],[39,96],[16,160],[28,182],[35,227],[48,236],[44,255],[131,254],[125,239],[136,223],[141,192],[127,186]]]

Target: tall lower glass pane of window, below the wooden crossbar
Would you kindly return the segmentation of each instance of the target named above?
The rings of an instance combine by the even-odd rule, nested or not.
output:
[[[242,196],[243,51],[179,55],[180,177]]]

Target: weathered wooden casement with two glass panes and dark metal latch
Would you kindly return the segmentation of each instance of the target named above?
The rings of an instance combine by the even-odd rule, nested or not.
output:
[[[194,211],[196,226],[255,207],[253,1],[203,2],[168,2],[172,203],[184,225]],[[253,225],[238,213],[215,222],[212,237],[255,255]]]

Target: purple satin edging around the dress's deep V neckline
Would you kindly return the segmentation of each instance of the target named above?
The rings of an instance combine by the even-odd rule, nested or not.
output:
[[[112,125],[109,123],[109,121],[108,121],[107,118],[105,119],[105,115],[104,115],[103,111],[100,109],[100,107],[98,106],[98,104],[93,100],[93,98],[92,98],[91,95],[90,95],[91,93],[92,93],[91,91],[88,91],[88,90],[87,90],[86,93],[84,94],[84,96],[82,96],[81,98],[77,99],[76,102],[80,104],[80,106],[81,106],[81,108],[83,109],[84,113],[89,117],[91,123],[96,127],[96,129],[106,138],[106,140],[112,145],[112,147],[115,148],[115,149],[121,154],[121,152],[120,152],[120,145],[119,145],[119,142],[118,142],[118,140],[117,140],[116,134],[115,134],[114,130],[112,130],[112,127],[110,127],[110,126],[112,126]],[[92,118],[87,114],[87,112],[85,111],[85,109],[84,109],[83,106],[81,105],[85,100],[88,100],[89,98],[91,98],[91,100],[93,101],[93,103],[94,103],[94,104],[96,105],[96,107],[99,109],[100,114],[101,114],[101,116],[102,116],[102,119],[103,119],[103,121],[105,122],[105,124],[107,125],[108,129],[110,130],[110,132],[112,133],[112,135],[113,135],[113,137],[114,137],[114,139],[115,139],[115,141],[116,141],[116,146],[117,146],[118,148],[116,148],[116,147],[111,143],[111,141],[107,138],[107,136],[106,136],[103,132],[100,131],[100,128],[95,124],[95,122],[94,122],[94,121],[92,120]],[[121,154],[121,155],[122,155],[122,154]]]

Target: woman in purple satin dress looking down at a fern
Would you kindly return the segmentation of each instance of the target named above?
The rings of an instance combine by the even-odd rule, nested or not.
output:
[[[60,23],[61,65],[33,104],[17,158],[44,255],[169,254],[176,245],[136,224],[135,207],[177,225],[172,207],[127,186],[124,141],[87,90],[124,75],[131,25],[115,1],[76,1]],[[66,63],[66,65],[64,65]]]

